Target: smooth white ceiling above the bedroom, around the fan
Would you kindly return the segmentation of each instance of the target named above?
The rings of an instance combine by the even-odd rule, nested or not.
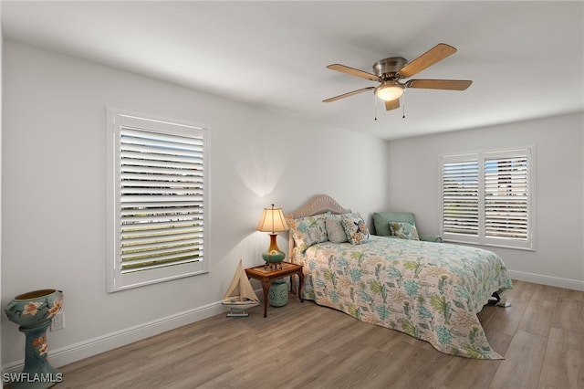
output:
[[[11,2],[6,38],[383,139],[584,109],[583,2]],[[472,79],[465,91],[408,89],[385,111],[372,72],[438,43],[458,49],[414,79]],[[375,116],[377,115],[377,121]]]

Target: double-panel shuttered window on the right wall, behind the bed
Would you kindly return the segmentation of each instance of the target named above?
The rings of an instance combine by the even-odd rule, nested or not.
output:
[[[442,158],[445,241],[533,249],[531,149]]]

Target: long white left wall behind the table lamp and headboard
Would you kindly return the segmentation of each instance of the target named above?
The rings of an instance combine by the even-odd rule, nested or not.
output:
[[[223,312],[239,258],[262,263],[264,206],[289,212],[320,193],[364,216],[386,205],[378,139],[12,41],[3,66],[2,305],[64,291],[65,329],[47,334],[56,366]],[[106,292],[106,106],[211,128],[208,274]],[[16,370],[24,336],[1,322],[2,361]]]

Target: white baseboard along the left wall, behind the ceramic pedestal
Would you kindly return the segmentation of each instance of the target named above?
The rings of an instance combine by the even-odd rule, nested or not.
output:
[[[107,352],[120,346],[138,342],[142,339],[158,335],[164,331],[171,331],[194,321],[201,321],[220,313],[224,313],[225,308],[221,302],[214,302],[203,307],[185,310],[171,316],[167,316],[156,321],[149,321],[124,330],[111,332],[97,338],[84,342],[71,344],[57,350],[49,350],[48,357],[53,367],[58,368],[68,363],[74,363],[82,359]],[[50,346],[50,344],[49,344]],[[23,346],[24,347],[24,346]],[[3,366],[3,373],[20,373],[25,365],[25,361],[20,360],[8,363]]]

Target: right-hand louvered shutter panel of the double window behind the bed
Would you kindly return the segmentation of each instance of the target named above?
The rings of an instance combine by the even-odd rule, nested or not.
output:
[[[527,239],[527,155],[485,158],[485,237]]]

